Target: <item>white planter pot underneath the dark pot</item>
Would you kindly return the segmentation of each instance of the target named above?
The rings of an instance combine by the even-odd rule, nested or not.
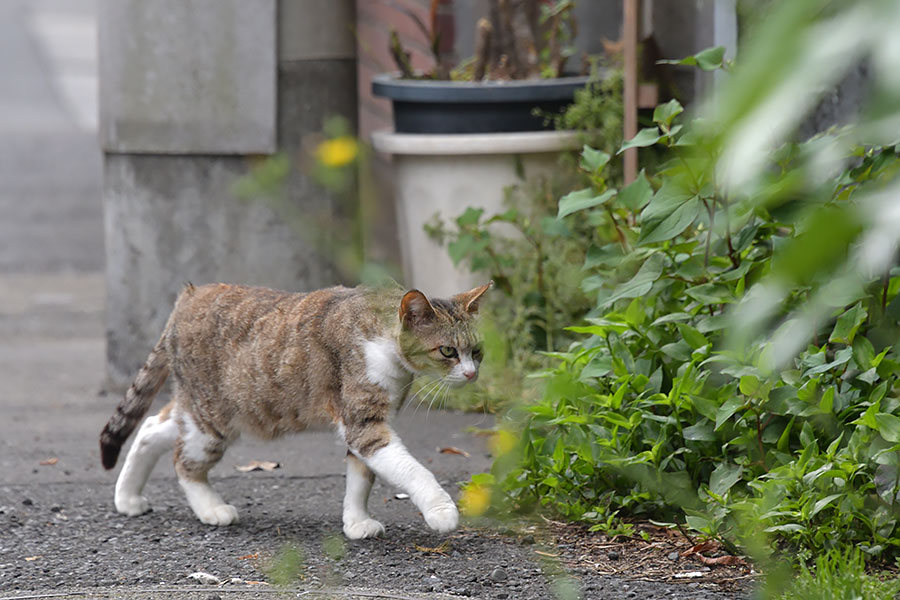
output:
[[[579,146],[572,131],[480,134],[372,134],[375,150],[393,155],[395,207],[406,284],[447,297],[484,283],[456,267],[446,247],[425,233],[435,213],[452,221],[466,208],[503,212],[504,190],[546,176],[559,153]]]

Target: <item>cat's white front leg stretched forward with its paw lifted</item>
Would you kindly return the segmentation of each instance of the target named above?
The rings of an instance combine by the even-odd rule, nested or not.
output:
[[[387,444],[374,451],[360,453],[352,447],[351,451],[376,475],[409,494],[431,529],[440,533],[456,529],[459,511],[450,494],[412,457],[395,433],[390,432]]]

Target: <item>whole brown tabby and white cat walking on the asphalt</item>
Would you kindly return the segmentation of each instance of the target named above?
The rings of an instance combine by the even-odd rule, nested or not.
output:
[[[407,494],[426,524],[456,528],[456,504],[388,424],[415,375],[448,386],[478,377],[475,317],[493,282],[449,300],[418,290],[332,287],[289,293],[228,284],[187,285],[162,336],[100,434],[104,468],[147,413],[171,372],[172,399],[138,430],[119,473],[116,510],[149,510],[141,495],[153,466],[174,449],[175,472],[197,518],[238,520],[209,484],[209,470],[241,433],[273,439],[330,424],[348,447],[343,530],[378,536],[368,512],[378,475]]]

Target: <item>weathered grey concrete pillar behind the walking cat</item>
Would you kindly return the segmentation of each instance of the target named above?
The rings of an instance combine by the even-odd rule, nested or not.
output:
[[[107,373],[127,385],[190,281],[290,290],[329,257],[235,182],[260,155],[295,165],[292,211],[332,210],[300,170],[304,138],[356,123],[352,0],[101,0],[100,139]]]

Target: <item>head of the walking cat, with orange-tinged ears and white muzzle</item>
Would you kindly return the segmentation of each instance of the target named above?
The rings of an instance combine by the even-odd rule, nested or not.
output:
[[[436,375],[454,386],[478,379],[482,348],[475,316],[481,296],[493,284],[449,300],[406,292],[400,301],[400,351],[416,373]]]

